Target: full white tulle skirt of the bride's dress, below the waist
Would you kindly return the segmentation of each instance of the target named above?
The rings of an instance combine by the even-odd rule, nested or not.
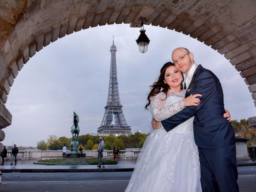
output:
[[[193,131],[175,129],[160,128],[146,138],[125,192],[202,191]]]

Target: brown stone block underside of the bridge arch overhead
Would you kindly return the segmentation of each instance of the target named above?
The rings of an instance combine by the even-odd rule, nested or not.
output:
[[[140,16],[224,54],[256,106],[255,10],[255,0],[0,0],[0,128],[12,120],[5,107],[10,87],[36,52],[89,27],[140,26]]]

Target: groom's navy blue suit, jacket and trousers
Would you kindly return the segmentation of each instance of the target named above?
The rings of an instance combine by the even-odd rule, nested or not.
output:
[[[168,132],[194,116],[194,139],[199,150],[201,184],[204,192],[237,192],[234,130],[223,117],[222,86],[218,78],[199,65],[185,97],[201,94],[199,106],[188,106],[161,121]]]

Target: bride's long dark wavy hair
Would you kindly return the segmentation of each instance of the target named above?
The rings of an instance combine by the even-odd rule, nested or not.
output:
[[[164,100],[166,100],[167,96],[168,96],[168,90],[170,90],[170,86],[166,83],[164,83],[164,74],[166,72],[166,69],[170,66],[175,66],[172,62],[167,62],[166,64],[164,64],[164,66],[162,66],[161,70],[160,70],[160,75],[158,77],[158,80],[156,82],[154,82],[153,85],[151,85],[150,87],[150,92],[148,94],[148,103],[145,106],[145,109],[148,109],[148,106],[150,105],[150,98],[157,95],[160,92],[164,92],[165,94],[165,98]],[[182,74],[182,72],[180,72]],[[181,90],[183,90],[183,81],[184,81],[184,76],[182,74],[182,82],[180,84],[180,88]],[[162,90],[161,90],[162,89]]]

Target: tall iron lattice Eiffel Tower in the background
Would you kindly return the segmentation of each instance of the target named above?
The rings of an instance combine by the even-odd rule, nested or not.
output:
[[[102,119],[102,123],[98,128],[99,134],[126,134],[130,135],[131,126],[127,125],[120,103],[118,81],[117,81],[117,70],[116,70],[116,46],[113,45],[110,48],[111,52],[111,63],[110,63],[110,77],[108,86],[108,100],[105,107],[105,113]],[[115,124],[112,124],[114,116]]]

